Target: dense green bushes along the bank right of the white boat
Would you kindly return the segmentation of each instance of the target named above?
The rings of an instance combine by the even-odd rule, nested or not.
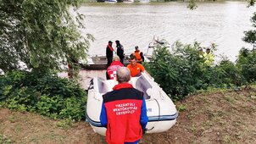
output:
[[[194,45],[176,42],[171,50],[166,45],[157,45],[151,63],[146,64],[147,71],[155,75],[155,81],[173,99],[180,100],[208,87],[241,86],[256,80],[255,50],[242,49],[237,64],[224,58],[220,64],[209,67],[198,48],[201,48],[198,42]]]

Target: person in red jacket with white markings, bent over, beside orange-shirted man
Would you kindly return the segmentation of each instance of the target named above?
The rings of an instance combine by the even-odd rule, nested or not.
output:
[[[114,61],[110,64],[110,66],[107,69],[107,73],[109,75],[109,79],[107,77],[107,80],[113,80],[116,78],[116,71],[117,69],[119,69],[120,67],[123,67],[124,65],[121,64],[120,62],[120,57],[119,56],[115,56],[114,57]]]

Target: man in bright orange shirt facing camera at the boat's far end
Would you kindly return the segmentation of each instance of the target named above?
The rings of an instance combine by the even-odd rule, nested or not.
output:
[[[142,64],[136,63],[136,56],[131,54],[131,64],[127,65],[127,68],[131,71],[131,77],[139,76],[145,71]]]

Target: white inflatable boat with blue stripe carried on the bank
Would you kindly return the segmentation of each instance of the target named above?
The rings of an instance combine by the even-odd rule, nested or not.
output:
[[[102,96],[106,92],[112,91],[117,83],[116,80],[103,80],[96,77],[90,81],[88,87],[86,119],[92,129],[102,136],[105,136],[106,131],[99,119],[103,102]],[[139,77],[132,77],[130,83],[139,91],[143,91],[146,99],[148,116],[146,133],[163,132],[175,125],[178,116],[175,104],[150,75],[142,73]]]

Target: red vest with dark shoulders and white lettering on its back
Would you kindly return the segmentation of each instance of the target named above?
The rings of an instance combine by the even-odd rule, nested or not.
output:
[[[103,95],[108,118],[106,141],[111,144],[134,142],[142,138],[140,117],[143,92],[126,85],[119,84],[114,91]]]

